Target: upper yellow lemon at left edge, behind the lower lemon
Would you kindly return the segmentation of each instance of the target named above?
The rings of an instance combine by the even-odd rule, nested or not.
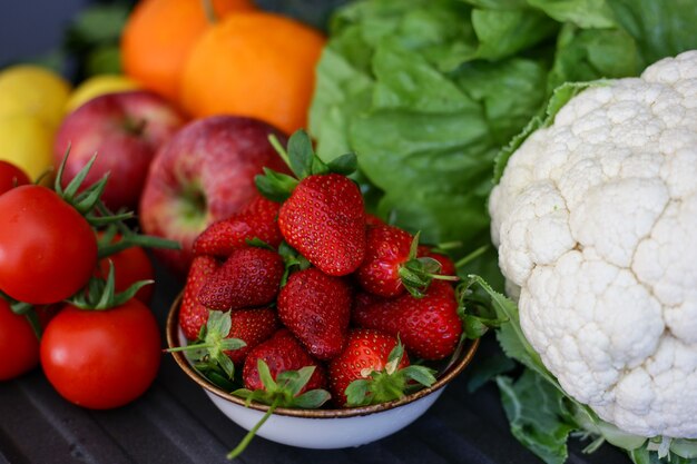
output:
[[[58,73],[35,65],[14,65],[0,71],[0,117],[27,113],[58,127],[70,83]]]

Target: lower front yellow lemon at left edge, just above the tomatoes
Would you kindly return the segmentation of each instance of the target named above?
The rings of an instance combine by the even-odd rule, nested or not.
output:
[[[0,159],[17,165],[36,180],[53,166],[53,132],[38,116],[0,118]]]

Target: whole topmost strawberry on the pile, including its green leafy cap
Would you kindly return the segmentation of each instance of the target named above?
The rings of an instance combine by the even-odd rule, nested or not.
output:
[[[273,137],[271,141],[295,177],[264,169],[255,182],[262,195],[283,201],[283,238],[327,275],[353,273],[365,253],[366,221],[361,190],[346,177],[356,169],[355,155],[325,164],[303,130],[288,139],[287,152]]]

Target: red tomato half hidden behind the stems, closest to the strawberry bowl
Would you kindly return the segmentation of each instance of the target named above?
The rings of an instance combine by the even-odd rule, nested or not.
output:
[[[115,239],[116,241],[116,239]],[[109,259],[114,263],[114,284],[116,292],[124,292],[138,280],[155,279],[155,269],[148,254],[140,247],[126,248],[99,261],[95,273],[98,277],[107,278],[109,275]],[[150,304],[153,299],[154,284],[146,285],[136,294],[136,298]]]

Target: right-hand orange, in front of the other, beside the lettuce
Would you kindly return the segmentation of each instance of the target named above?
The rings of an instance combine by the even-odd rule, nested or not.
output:
[[[249,116],[292,134],[307,122],[325,40],[287,17],[228,14],[192,50],[181,75],[180,105],[194,117]]]

